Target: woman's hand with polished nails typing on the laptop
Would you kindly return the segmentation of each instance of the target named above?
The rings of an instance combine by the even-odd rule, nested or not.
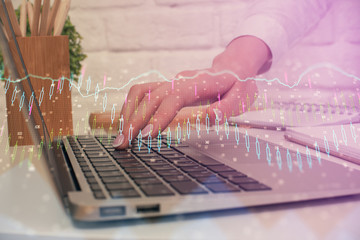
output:
[[[129,139],[136,138],[140,130],[143,137],[149,134],[156,137],[186,106],[210,102],[207,110],[210,121],[217,118],[220,124],[225,116],[239,115],[242,112],[239,103],[246,102],[247,95],[253,101],[257,92],[254,80],[239,79],[255,76],[270,55],[261,40],[240,37],[215,57],[209,69],[181,72],[173,82],[134,85],[120,114],[124,119],[123,132],[113,146],[128,147]]]

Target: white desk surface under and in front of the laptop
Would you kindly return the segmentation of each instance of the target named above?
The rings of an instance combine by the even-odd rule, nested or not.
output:
[[[75,118],[79,116],[85,114],[77,113]],[[56,195],[44,159],[35,152],[30,161],[27,148],[23,155],[22,147],[13,158],[14,148],[6,149],[6,137],[4,130],[0,137],[0,239],[360,238],[360,196],[77,227]]]

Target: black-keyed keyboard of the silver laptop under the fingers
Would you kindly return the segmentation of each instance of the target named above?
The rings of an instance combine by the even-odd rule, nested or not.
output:
[[[168,147],[164,140],[158,148],[158,140],[149,145],[142,141],[118,151],[112,147],[114,138],[68,137],[97,199],[271,190],[212,158],[187,156],[181,152],[188,147],[185,144],[172,142]]]

